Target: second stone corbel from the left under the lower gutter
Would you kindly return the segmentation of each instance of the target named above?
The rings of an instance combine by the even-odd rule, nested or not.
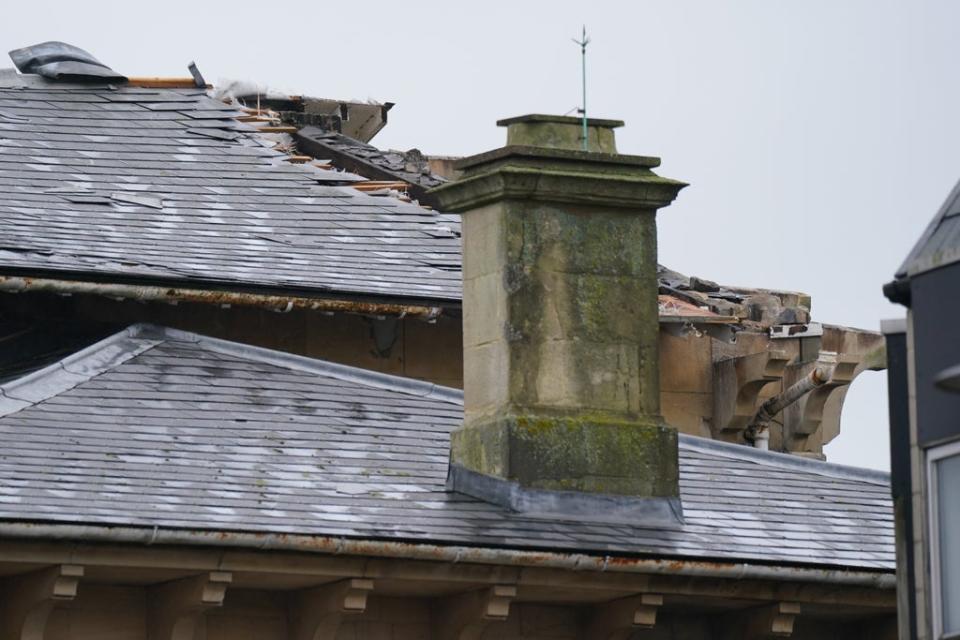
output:
[[[193,640],[203,614],[223,606],[232,580],[233,575],[228,571],[210,571],[154,587],[148,597],[147,637]]]

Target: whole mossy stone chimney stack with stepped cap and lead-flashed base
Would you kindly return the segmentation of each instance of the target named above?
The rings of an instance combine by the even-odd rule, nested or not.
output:
[[[679,517],[660,416],[656,211],[685,185],[620,155],[616,120],[501,120],[435,189],[463,214],[465,421],[450,488],[544,517]]]

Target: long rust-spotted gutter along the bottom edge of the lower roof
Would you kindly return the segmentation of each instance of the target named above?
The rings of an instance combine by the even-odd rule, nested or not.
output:
[[[331,555],[374,556],[408,560],[432,560],[464,564],[545,567],[570,571],[642,573],[655,575],[723,578],[728,580],[774,580],[895,589],[893,571],[850,571],[782,565],[761,565],[706,560],[627,558],[582,553],[557,553],[442,546],[407,542],[349,540],[328,536],[276,533],[238,533],[144,527],[0,523],[0,539],[83,541],[141,545],[188,545],[239,547],[264,551],[295,551]]]

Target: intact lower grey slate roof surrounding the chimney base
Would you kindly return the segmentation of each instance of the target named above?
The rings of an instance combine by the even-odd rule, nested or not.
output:
[[[892,570],[886,474],[680,438],[685,524],[447,493],[461,395],[138,325],[0,387],[0,521]]]

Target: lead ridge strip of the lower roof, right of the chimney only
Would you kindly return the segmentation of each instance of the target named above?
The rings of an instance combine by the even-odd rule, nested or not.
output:
[[[711,440],[710,438],[693,436],[686,433],[679,434],[679,442],[681,446],[684,446],[688,449],[703,453],[710,453],[725,458],[749,460],[750,462],[755,462],[757,464],[780,467],[794,471],[806,471],[808,473],[837,478],[839,480],[868,482],[870,484],[883,486],[888,486],[890,484],[890,474],[886,471],[878,471],[876,469],[866,469],[862,467],[837,464],[835,462],[827,462],[824,460],[803,458],[789,453],[780,453],[778,451],[765,451],[742,444]]]

